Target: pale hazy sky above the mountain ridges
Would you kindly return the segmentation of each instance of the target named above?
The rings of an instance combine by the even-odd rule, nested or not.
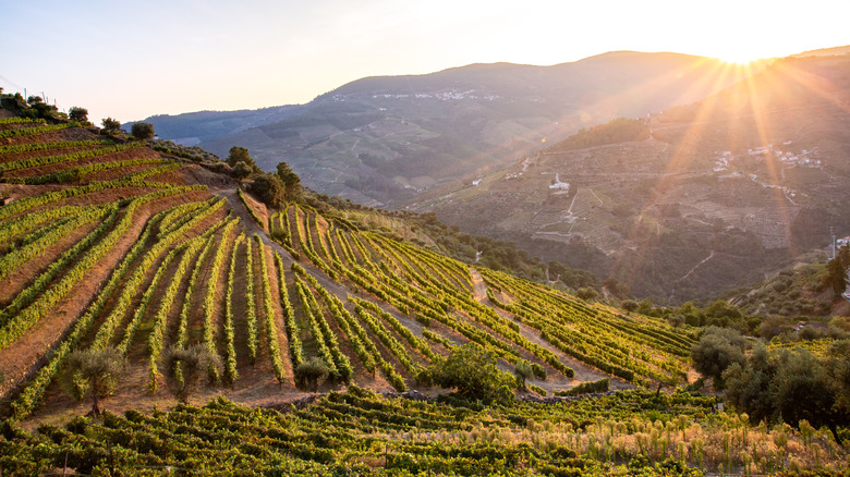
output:
[[[0,86],[99,123],[307,102],[348,82],[612,50],[746,60],[850,44],[850,1],[0,0]]]

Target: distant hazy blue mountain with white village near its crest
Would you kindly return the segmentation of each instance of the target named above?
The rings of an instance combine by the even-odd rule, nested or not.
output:
[[[619,51],[552,66],[472,64],[362,78],[286,110],[282,120],[259,121],[257,111],[244,120],[205,112],[146,121],[163,138],[201,142],[221,157],[246,147],[265,170],[287,161],[315,191],[394,207],[582,126],[685,105],[745,74],[702,57]],[[233,131],[223,135],[217,121]]]

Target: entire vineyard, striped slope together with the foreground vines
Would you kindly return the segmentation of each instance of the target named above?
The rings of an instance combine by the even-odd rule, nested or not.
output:
[[[302,203],[266,210],[205,163],[104,139],[76,124],[0,120],[0,139],[7,469],[27,475],[68,458],[80,472],[102,472],[107,453],[109,465],[151,475],[168,466],[209,474],[222,465],[236,475],[331,475],[337,465],[579,475],[640,455],[718,468],[762,465],[729,455],[728,439],[739,439],[744,425],[713,420],[720,436],[732,436],[725,443],[712,443],[712,435],[695,448],[700,440],[685,438],[708,428],[694,423],[711,414],[713,399],[656,394],[666,401],[652,408],[667,427],[630,417],[653,394],[642,389],[687,382],[696,335],[687,327],[588,304],[380,233],[416,235],[397,219],[319,212]],[[595,404],[563,402],[563,409],[526,403],[495,414],[372,392],[436,394],[424,372],[469,342],[493,353],[506,376],[529,364],[533,391],[523,393],[551,395],[602,378],[614,390],[638,390]],[[209,368],[209,386],[196,397],[209,404],[146,414],[173,405],[166,389],[183,379],[170,376],[168,350],[193,345],[222,364]],[[130,364],[107,401],[126,409],[123,417],[39,426],[69,409],[85,413],[60,378],[73,351],[106,348]],[[281,404],[309,395],[296,386],[295,369],[316,359],[328,371],[321,391],[351,391],[298,411]],[[746,442],[755,458],[761,448]],[[785,448],[768,450],[764,466],[790,462]],[[821,452],[833,458],[839,450]]]

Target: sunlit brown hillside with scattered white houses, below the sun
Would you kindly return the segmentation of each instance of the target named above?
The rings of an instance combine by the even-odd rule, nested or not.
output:
[[[636,296],[716,296],[826,247],[830,227],[850,232],[848,99],[850,58],[789,58],[702,101],[632,129],[584,131],[411,208],[617,279]]]

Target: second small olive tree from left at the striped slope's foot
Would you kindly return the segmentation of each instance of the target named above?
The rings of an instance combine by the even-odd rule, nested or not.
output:
[[[170,346],[162,356],[170,377],[171,394],[182,403],[189,403],[189,397],[197,391],[204,378],[209,376],[210,369],[215,370],[215,375],[221,374],[221,356],[211,353],[203,344],[190,347]]]

